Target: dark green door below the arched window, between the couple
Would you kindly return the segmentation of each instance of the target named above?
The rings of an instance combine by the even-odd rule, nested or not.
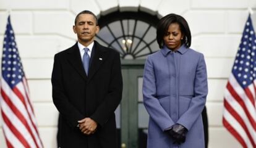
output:
[[[148,114],[142,102],[142,76],[145,60],[122,60],[124,81],[121,102],[121,147],[144,148],[147,142]]]

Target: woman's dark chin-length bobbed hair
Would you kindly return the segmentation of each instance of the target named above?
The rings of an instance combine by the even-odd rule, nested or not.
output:
[[[163,48],[163,38],[166,35],[166,32],[168,31],[169,25],[171,25],[171,23],[179,24],[179,28],[181,29],[181,33],[183,35],[182,44],[185,44],[187,47],[190,47],[191,33],[189,30],[189,25],[181,15],[177,14],[168,14],[162,19],[160,19],[160,21],[158,22],[156,30],[156,39],[159,47]]]

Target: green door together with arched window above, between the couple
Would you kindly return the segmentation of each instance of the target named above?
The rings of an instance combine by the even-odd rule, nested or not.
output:
[[[142,75],[145,59],[158,51],[156,25],[158,16],[146,12],[111,12],[98,20],[96,41],[119,52],[122,59],[124,91],[116,110],[120,145],[144,148],[147,140],[148,114],[142,103]]]

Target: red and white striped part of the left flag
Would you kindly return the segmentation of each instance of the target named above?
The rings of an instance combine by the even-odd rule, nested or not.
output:
[[[25,78],[13,89],[2,78],[0,92],[2,128],[7,147],[43,147]]]

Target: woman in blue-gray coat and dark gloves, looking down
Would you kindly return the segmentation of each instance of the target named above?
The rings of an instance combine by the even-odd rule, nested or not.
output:
[[[203,148],[201,113],[208,92],[203,54],[189,48],[189,25],[180,15],[163,17],[156,38],[161,50],[148,56],[143,75],[147,147]]]

